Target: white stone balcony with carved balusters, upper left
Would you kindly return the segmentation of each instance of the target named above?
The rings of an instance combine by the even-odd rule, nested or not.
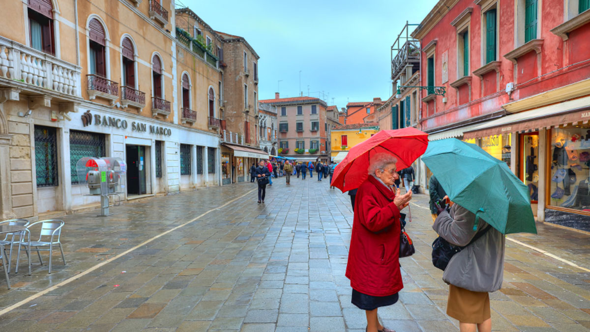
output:
[[[8,93],[6,100],[19,100],[19,94],[26,94],[42,97],[45,106],[51,106],[52,99],[79,103],[80,69],[0,36],[0,87]]]

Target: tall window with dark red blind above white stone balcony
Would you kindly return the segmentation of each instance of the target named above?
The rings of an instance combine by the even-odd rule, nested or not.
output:
[[[29,1],[28,17],[31,47],[41,52],[55,54],[51,0]]]

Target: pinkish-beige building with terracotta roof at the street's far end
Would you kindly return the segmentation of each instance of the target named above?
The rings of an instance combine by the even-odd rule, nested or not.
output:
[[[261,100],[276,107],[278,119],[278,147],[282,156],[298,161],[329,161],[330,142],[327,133],[326,103],[313,97]]]

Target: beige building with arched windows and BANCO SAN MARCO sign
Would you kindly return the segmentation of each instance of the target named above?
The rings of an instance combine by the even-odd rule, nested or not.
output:
[[[21,0],[3,10],[0,218],[96,207],[76,172],[81,157],[126,163],[112,201],[221,185],[228,37],[173,0]]]

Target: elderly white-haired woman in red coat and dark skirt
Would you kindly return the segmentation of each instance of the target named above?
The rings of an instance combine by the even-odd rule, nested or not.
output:
[[[396,163],[387,153],[371,157],[369,177],[356,192],[346,277],[352,304],[366,311],[368,332],[392,331],[379,323],[377,308],[396,303],[404,287],[399,272],[399,211],[409,204],[412,191],[400,195],[395,187]]]

